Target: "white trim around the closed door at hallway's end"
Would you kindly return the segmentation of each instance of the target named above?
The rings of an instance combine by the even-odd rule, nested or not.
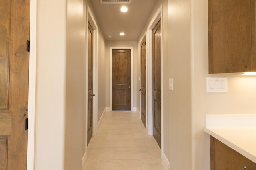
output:
[[[136,111],[136,107],[133,107],[133,47],[110,47],[110,86],[109,86],[109,106],[110,111],[112,111],[112,50],[118,50],[118,49],[124,49],[124,50],[131,50],[131,111]]]

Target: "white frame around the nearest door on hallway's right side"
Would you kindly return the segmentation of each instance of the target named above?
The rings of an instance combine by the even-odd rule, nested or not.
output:
[[[163,116],[163,5],[158,8],[158,11],[154,15],[147,29],[147,130],[149,135],[153,135],[153,40],[152,40],[152,30],[156,26],[159,20],[161,20],[161,150],[164,152],[164,116]]]

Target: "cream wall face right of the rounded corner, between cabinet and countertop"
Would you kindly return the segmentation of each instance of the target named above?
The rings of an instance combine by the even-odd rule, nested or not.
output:
[[[255,114],[256,76],[208,74],[208,2],[191,2],[193,168],[210,170],[210,142],[204,132],[204,114]],[[228,92],[206,93],[207,76],[228,77]]]

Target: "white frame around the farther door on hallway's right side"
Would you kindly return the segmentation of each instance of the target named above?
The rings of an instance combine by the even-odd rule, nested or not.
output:
[[[140,39],[140,41],[139,41],[140,48],[138,49],[139,50],[139,54],[140,54],[140,56],[139,56],[139,62],[140,62],[140,76],[139,76],[140,77],[139,78],[140,79],[140,87],[139,87],[139,89],[141,88],[141,41],[142,41],[142,39],[145,36],[146,36],[146,42],[147,42],[147,31],[145,31],[145,33],[143,34],[142,38]],[[147,49],[146,49],[146,61],[147,61]],[[147,69],[146,69],[146,79],[147,79]],[[146,82],[147,82],[147,80],[146,80]],[[139,93],[140,93],[140,119],[141,119],[141,92],[139,92]],[[146,113],[147,113],[147,102],[146,102]],[[148,121],[146,120],[146,128],[147,128],[147,124],[148,124]]]

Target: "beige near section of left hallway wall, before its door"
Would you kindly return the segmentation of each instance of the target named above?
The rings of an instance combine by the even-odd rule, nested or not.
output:
[[[68,0],[65,169],[82,168],[85,119],[85,22],[83,0]]]

